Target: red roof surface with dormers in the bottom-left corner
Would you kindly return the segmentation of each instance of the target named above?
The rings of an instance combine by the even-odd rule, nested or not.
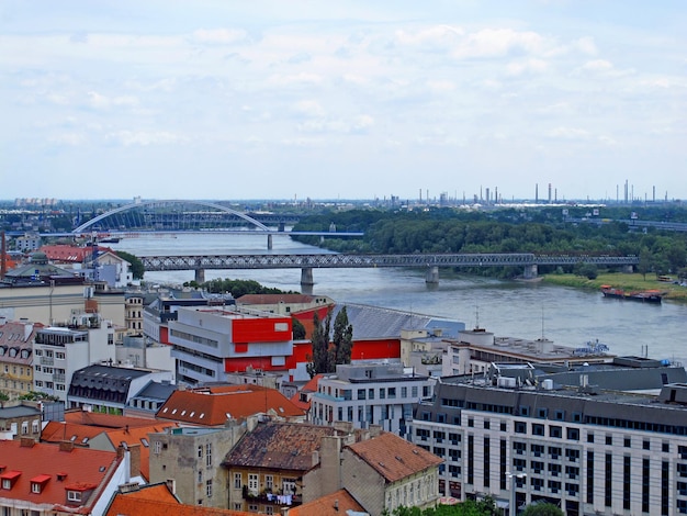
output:
[[[5,472],[21,472],[11,490],[2,490],[2,497],[55,506],[53,511],[67,504],[67,489],[79,491],[109,482],[113,469],[122,460],[114,451],[86,448],[63,451],[59,446],[41,442],[22,446],[27,442],[26,439],[0,440],[0,457]],[[63,478],[64,474],[66,476]],[[44,481],[41,493],[34,493],[31,481],[40,475],[49,475],[49,480]],[[63,480],[58,480],[58,475]],[[69,512],[90,514],[95,502],[97,496],[93,494],[81,511],[70,508]]]

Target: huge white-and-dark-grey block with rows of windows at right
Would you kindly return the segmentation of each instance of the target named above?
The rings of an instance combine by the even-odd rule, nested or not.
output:
[[[570,516],[687,514],[687,377],[643,358],[493,364],[443,378],[413,441],[443,459],[440,490]],[[660,393],[656,395],[656,393]]]

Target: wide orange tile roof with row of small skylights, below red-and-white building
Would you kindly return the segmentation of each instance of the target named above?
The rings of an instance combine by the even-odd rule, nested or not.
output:
[[[174,391],[158,410],[159,419],[201,426],[218,426],[260,413],[274,413],[285,419],[305,412],[275,389],[259,385],[228,385]]]

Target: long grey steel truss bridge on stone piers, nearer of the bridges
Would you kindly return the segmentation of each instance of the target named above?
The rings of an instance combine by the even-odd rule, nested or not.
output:
[[[635,256],[554,256],[520,254],[408,254],[408,255],[214,255],[142,256],[146,271],[194,270],[195,281],[209,269],[301,269],[301,284],[312,285],[313,269],[406,267],[427,270],[428,283],[439,282],[440,267],[522,267],[525,278],[536,278],[539,266],[579,262],[632,268]]]

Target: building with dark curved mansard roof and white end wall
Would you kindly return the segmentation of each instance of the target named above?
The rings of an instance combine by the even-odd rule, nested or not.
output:
[[[67,407],[123,414],[129,401],[151,381],[171,381],[170,371],[87,366],[74,372]]]

